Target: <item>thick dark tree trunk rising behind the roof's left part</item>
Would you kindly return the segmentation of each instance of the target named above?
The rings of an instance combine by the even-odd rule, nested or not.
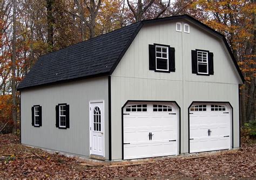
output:
[[[46,8],[47,8],[47,30],[48,30],[48,38],[47,38],[47,44],[48,44],[48,52],[52,52],[53,49],[53,25],[54,25],[54,18],[53,18],[53,4],[55,3],[55,0],[46,0]]]

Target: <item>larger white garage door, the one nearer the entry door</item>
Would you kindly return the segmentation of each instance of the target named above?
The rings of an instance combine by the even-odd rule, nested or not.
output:
[[[128,103],[123,110],[124,160],[178,154],[176,105]]]

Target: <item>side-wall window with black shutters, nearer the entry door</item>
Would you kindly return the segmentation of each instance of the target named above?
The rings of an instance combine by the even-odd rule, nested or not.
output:
[[[59,129],[69,128],[69,105],[66,103],[56,106],[56,127]]]

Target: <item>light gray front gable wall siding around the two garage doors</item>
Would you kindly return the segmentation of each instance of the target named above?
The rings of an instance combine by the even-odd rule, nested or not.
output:
[[[186,22],[187,23],[187,22]],[[182,22],[184,31],[184,22]],[[240,79],[221,41],[190,22],[190,33],[176,22],[143,26],[111,75],[112,159],[122,158],[122,112],[127,100],[176,101],[181,107],[181,153],[188,152],[188,112],[192,101],[229,101],[234,108],[234,147],[239,147]],[[176,50],[176,72],[149,70],[149,44]],[[214,75],[192,74],[191,50],[214,53]]]

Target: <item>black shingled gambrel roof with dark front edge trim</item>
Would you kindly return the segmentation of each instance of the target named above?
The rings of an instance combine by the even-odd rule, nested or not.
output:
[[[39,57],[30,72],[18,85],[18,90],[111,75],[143,25],[167,22],[173,19],[186,19],[223,39],[233,60],[233,64],[241,80],[244,82],[244,77],[223,34],[191,16],[181,15],[142,20],[138,23]]]

